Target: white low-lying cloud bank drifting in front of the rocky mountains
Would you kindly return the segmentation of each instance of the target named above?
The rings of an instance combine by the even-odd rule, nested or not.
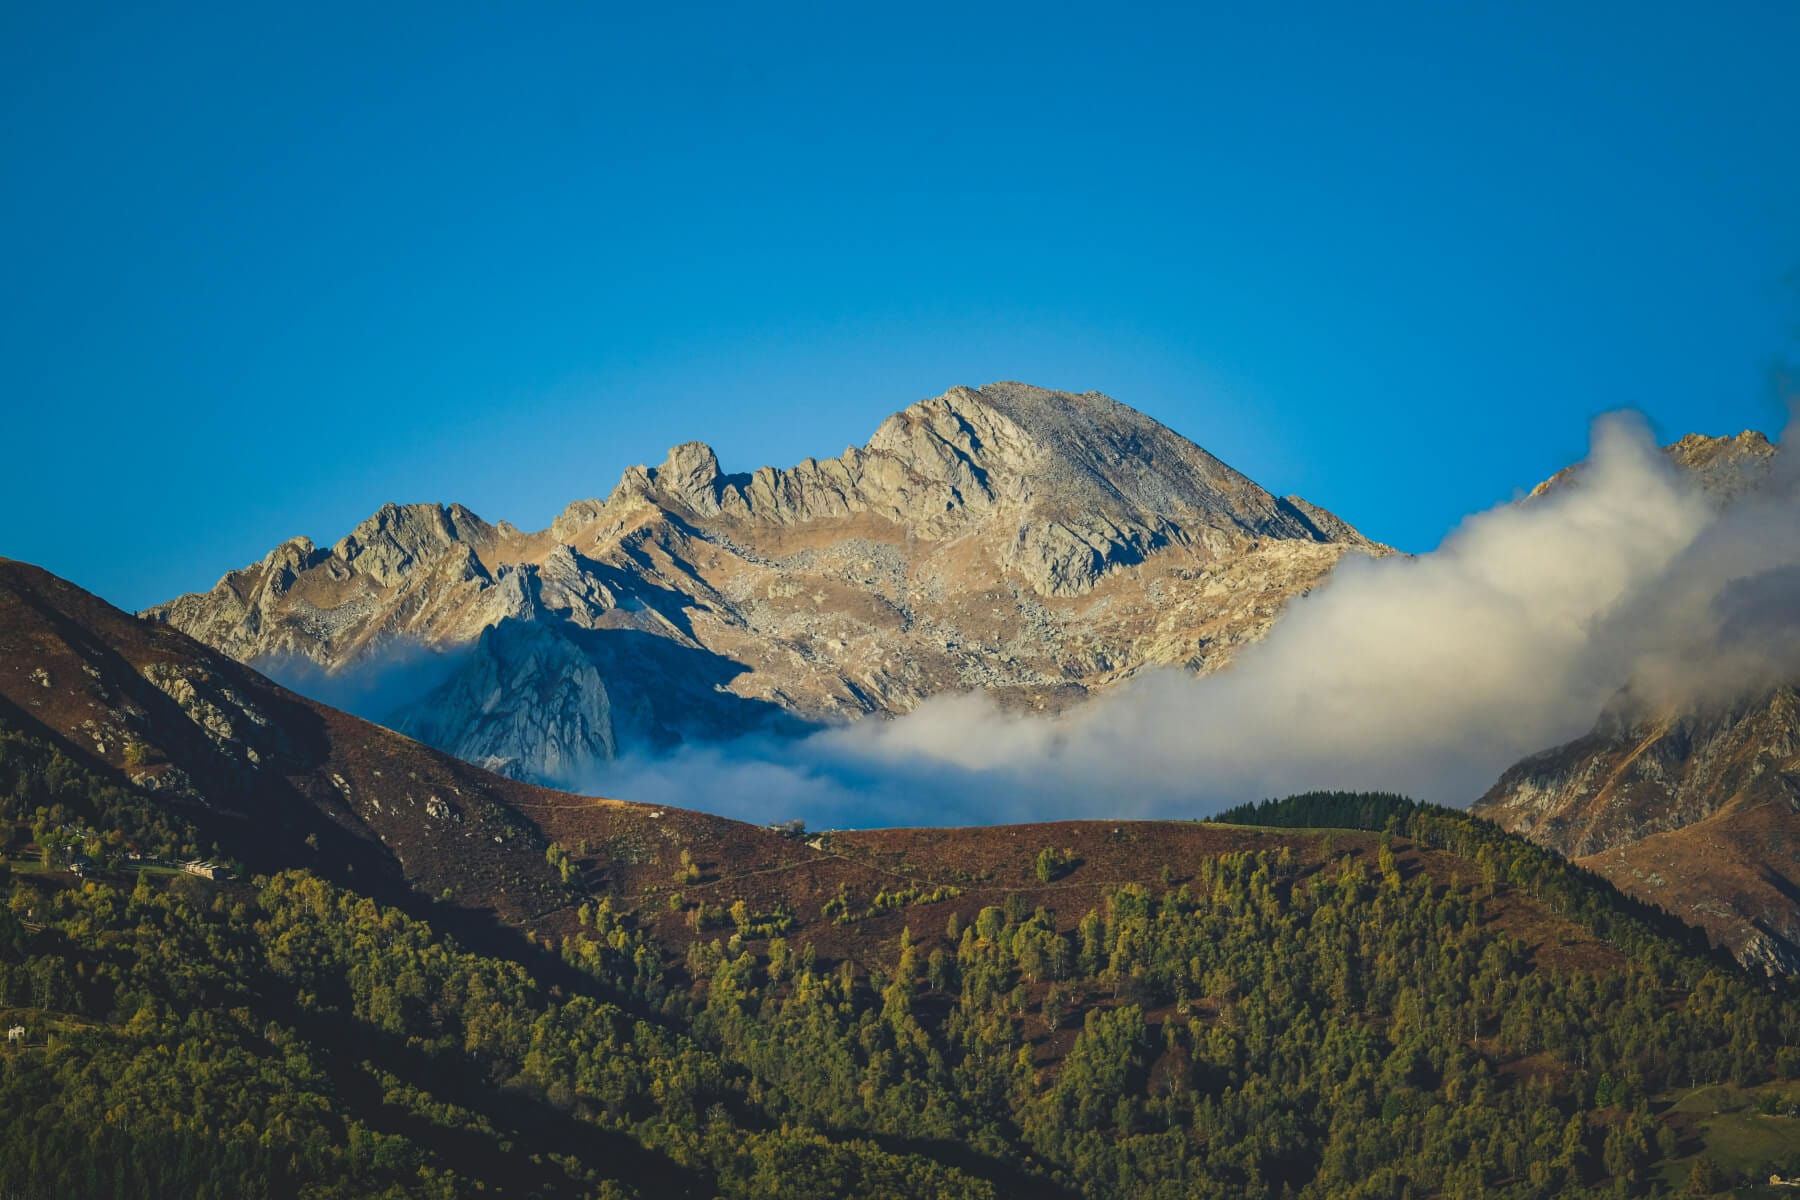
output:
[[[625,759],[590,790],[819,826],[1197,817],[1307,788],[1467,804],[1642,703],[1800,675],[1800,504],[1778,462],[1719,511],[1631,416],[1573,482],[1420,558],[1348,560],[1202,678],[1148,673],[1058,718],[943,696],[801,741]]]

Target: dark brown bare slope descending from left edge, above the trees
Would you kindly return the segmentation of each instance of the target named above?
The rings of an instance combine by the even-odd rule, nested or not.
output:
[[[0,560],[0,723],[115,770],[254,869],[448,894],[522,919],[563,903],[535,790],[313,703],[176,630]]]

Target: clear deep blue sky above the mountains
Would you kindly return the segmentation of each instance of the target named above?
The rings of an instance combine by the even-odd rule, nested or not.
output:
[[[385,500],[1100,389],[1429,549],[1771,434],[1800,5],[0,5],[0,554],[140,606]]]

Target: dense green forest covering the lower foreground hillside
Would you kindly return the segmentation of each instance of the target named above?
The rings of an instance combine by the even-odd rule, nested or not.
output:
[[[607,894],[574,896],[578,936],[493,957],[304,871],[153,869],[193,833],[23,736],[0,738],[0,804],[9,1196],[1634,1196],[1800,1173],[1800,1144],[1697,1153],[1670,1110],[1730,1083],[1793,1121],[1791,993],[1402,797],[1226,813],[1319,833],[1080,912],[1012,894],[932,919],[949,892],[914,896],[855,961],[742,903],[677,948]],[[63,869],[77,849],[97,878]],[[1026,851],[1040,880],[1075,867]],[[1526,900],[1604,961],[1535,963],[1499,919]]]

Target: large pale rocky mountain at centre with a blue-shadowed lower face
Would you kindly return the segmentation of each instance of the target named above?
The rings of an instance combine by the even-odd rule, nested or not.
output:
[[[430,698],[367,714],[567,783],[621,745],[976,687],[1053,709],[1148,666],[1210,671],[1345,552],[1386,547],[1105,396],[995,383],[785,471],[725,475],[686,443],[536,534],[389,506],[146,615],[331,673],[457,649]]]

